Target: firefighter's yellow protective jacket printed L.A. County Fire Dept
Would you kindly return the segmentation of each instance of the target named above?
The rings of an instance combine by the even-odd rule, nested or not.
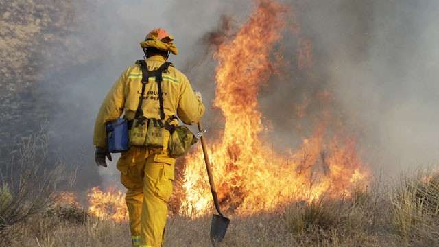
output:
[[[162,56],[147,58],[148,71],[158,69],[164,62],[165,58]],[[134,64],[123,71],[119,80],[112,86],[97,114],[94,145],[104,148],[108,146],[105,124],[120,117],[124,110],[127,119],[134,119],[142,92],[141,80],[140,65]],[[185,124],[195,124],[200,121],[204,115],[204,105],[198,97],[195,97],[191,84],[183,73],[169,66],[167,73],[163,73],[161,87],[165,120],[177,113]],[[146,118],[160,119],[158,86],[155,78],[150,78],[149,83],[146,84],[142,110]]]

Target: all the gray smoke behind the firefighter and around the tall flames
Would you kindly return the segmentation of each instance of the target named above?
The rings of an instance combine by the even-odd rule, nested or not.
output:
[[[285,80],[273,78],[261,89],[261,110],[272,121],[272,142],[279,151],[298,148],[312,128],[296,130],[294,106],[305,97],[329,89],[330,108],[340,113],[346,132],[357,137],[364,161],[395,174],[410,166],[428,165],[439,155],[438,54],[439,3],[425,1],[282,1],[294,10],[300,36],[312,44],[313,66],[297,69],[296,36],[285,31],[282,49],[291,66]],[[76,10],[78,32],[71,34],[71,62],[62,78],[58,113],[50,116],[54,143],[64,159],[82,154],[78,179],[84,187],[118,185],[117,156],[97,176],[93,161],[93,126],[106,93],[126,67],[142,58],[139,42],[154,27],[174,35],[178,56],[170,61],[203,93],[206,108],[215,94],[216,62],[206,37],[222,27],[226,15],[235,28],[254,8],[253,1],[81,1]],[[152,10],[154,6],[154,9]],[[289,17],[286,16],[286,19]],[[287,20],[291,21],[291,20]],[[283,48],[281,48],[283,47]],[[55,93],[55,92],[54,92]],[[307,113],[318,111],[311,104]],[[205,126],[217,110],[209,110]],[[215,132],[215,130],[213,130]],[[305,135],[305,136],[304,136]],[[68,141],[66,141],[68,140]],[[105,180],[108,178],[108,180]]]

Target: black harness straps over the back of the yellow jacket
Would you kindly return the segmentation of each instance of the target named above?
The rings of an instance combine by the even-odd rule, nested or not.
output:
[[[160,104],[160,119],[163,121],[165,119],[165,110],[163,109],[163,93],[162,93],[162,86],[161,86],[161,82],[163,81],[162,73],[166,72],[169,65],[171,65],[172,63],[165,62],[156,71],[148,71],[147,64],[146,64],[145,60],[138,60],[136,63],[140,65],[141,70],[142,70],[142,81],[141,81],[142,82],[142,93],[140,96],[139,106],[137,107],[135,117],[139,118],[139,117],[143,116],[142,101],[143,101],[143,93],[145,93],[145,86],[148,83],[149,78],[155,76],[157,86],[158,86],[158,102]]]

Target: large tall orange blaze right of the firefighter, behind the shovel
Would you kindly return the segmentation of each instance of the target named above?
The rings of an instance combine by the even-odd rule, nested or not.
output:
[[[257,96],[259,87],[275,72],[272,49],[283,38],[281,32],[287,25],[283,16],[292,14],[286,9],[272,1],[257,1],[248,21],[215,54],[219,64],[214,106],[222,110],[224,130],[209,145],[209,158],[223,211],[248,214],[292,200],[348,196],[353,186],[368,179],[353,137],[346,137],[342,130],[327,131],[333,128],[330,116],[324,115],[328,119],[318,121],[311,137],[303,138],[300,148],[287,155],[272,150],[270,140],[263,136],[269,128],[262,122]],[[310,67],[311,43],[300,38],[298,25],[289,29],[298,36],[298,69]],[[316,98],[326,100],[329,97],[323,96],[327,95],[325,90]],[[302,112],[310,100],[296,110]],[[211,136],[206,139],[213,141]],[[200,146],[185,158],[183,187],[180,213],[198,216],[211,210]]]

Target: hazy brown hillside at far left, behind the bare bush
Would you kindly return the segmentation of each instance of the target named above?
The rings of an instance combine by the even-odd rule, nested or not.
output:
[[[51,136],[47,166],[78,156],[78,143],[64,141],[72,150],[57,145],[54,119],[67,114],[69,68],[86,64],[78,56],[84,40],[78,36],[84,1],[2,1],[0,3],[0,167],[5,172],[14,151],[30,135],[45,126]],[[79,13],[79,14],[78,14]],[[48,124],[50,123],[50,124]],[[58,130],[58,137],[61,131]],[[56,147],[59,148],[56,148]],[[75,163],[67,162],[69,163]],[[77,163],[77,162],[76,162]],[[76,164],[78,165],[78,164]],[[75,167],[67,166],[71,172]],[[97,172],[89,170],[92,176]],[[87,174],[87,173],[84,173]],[[87,175],[80,176],[88,179]]]

